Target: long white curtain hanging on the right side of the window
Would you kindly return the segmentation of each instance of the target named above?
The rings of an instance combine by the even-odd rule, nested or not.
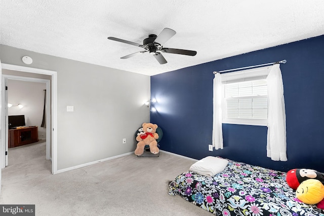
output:
[[[267,156],[271,157],[272,160],[287,161],[285,98],[280,64],[275,64],[272,67],[267,77],[267,83]]]

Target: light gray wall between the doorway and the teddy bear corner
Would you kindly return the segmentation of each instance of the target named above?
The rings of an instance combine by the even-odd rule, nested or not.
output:
[[[144,105],[150,98],[149,76],[0,48],[2,63],[57,71],[58,170],[135,150],[134,133],[149,120]],[[30,56],[33,63],[23,64],[23,56]],[[73,105],[74,112],[66,112],[67,105]]]

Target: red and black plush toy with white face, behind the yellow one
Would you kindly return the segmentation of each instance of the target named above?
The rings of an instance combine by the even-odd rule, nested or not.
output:
[[[286,181],[288,185],[296,190],[298,186],[307,179],[317,179],[324,185],[324,174],[310,169],[293,169],[288,171]]]

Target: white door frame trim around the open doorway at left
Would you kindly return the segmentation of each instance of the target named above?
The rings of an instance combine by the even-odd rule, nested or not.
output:
[[[49,71],[44,69],[38,69],[38,68],[29,68],[29,67],[23,67],[23,66],[17,66],[17,65],[10,65],[10,64],[2,64],[2,69],[6,70],[13,70],[13,71],[20,71],[20,72],[26,72],[26,73],[35,73],[35,74],[44,74],[44,75],[50,75],[51,76],[51,82],[46,83],[47,89],[51,89],[51,92],[47,93],[48,97],[51,98],[51,107],[49,112],[47,114],[47,122],[51,122],[49,124],[49,127],[46,129],[46,136],[50,137],[49,143],[52,143],[52,147],[48,148],[47,146],[47,159],[48,155],[50,155],[50,151],[52,150],[52,174],[57,173],[57,72],[56,71]],[[6,86],[5,84],[5,78],[8,78],[9,75],[2,75],[2,98],[6,98]],[[16,77],[20,79],[19,76],[10,76],[10,78]],[[25,77],[26,78],[26,77]],[[32,80],[35,78],[26,78],[25,80]],[[21,79],[20,79],[21,80]],[[48,91],[47,91],[48,92]],[[51,94],[51,97],[49,96]],[[2,116],[6,116],[6,102],[7,98],[2,100]],[[6,119],[8,118],[2,118],[1,120],[1,128],[4,128],[5,130],[1,130],[1,136],[2,137],[8,137],[8,127],[6,125]],[[49,132],[49,133],[48,133]],[[7,133],[7,136],[6,136]],[[0,148],[0,162],[1,162],[1,168],[5,168],[6,166],[6,139],[1,140],[1,148]],[[47,144],[48,145],[48,144]],[[8,142],[7,142],[8,146]]]

